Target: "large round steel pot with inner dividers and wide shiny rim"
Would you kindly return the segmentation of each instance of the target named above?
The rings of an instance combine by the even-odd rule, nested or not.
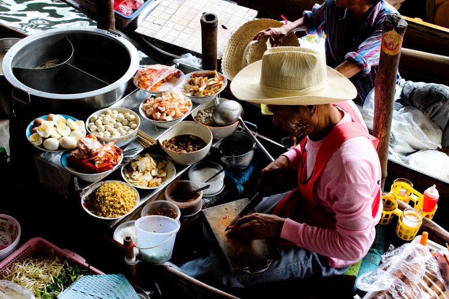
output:
[[[48,113],[84,119],[120,100],[139,67],[134,45],[114,31],[57,28],[28,36],[6,53],[15,116]]]

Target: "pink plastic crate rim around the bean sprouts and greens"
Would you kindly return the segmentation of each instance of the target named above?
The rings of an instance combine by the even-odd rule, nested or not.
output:
[[[3,273],[20,258],[27,258],[31,255],[51,255],[52,253],[60,256],[61,258],[67,258],[73,263],[88,268],[93,274],[104,274],[102,271],[88,265],[86,260],[76,253],[68,250],[61,249],[58,246],[50,243],[46,239],[39,237],[29,239],[26,243],[15,250],[6,259],[0,262],[0,279],[3,278]]]

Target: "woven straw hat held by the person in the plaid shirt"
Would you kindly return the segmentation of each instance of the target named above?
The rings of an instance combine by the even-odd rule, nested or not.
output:
[[[282,22],[273,19],[251,20],[240,26],[229,38],[222,56],[222,72],[228,80],[232,80],[246,65],[262,59],[267,48],[271,47],[268,37],[253,40],[261,30],[269,27],[281,27]],[[294,33],[290,33],[282,41],[281,46],[299,46]]]

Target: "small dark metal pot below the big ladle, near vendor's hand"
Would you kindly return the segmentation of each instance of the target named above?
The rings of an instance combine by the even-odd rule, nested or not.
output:
[[[218,141],[214,148],[220,152],[220,160],[225,166],[229,167],[229,170],[241,171],[251,164],[256,142],[252,140],[249,134],[235,131]]]

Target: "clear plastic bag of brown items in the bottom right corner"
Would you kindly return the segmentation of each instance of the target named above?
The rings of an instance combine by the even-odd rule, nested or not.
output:
[[[437,259],[429,247],[415,243],[390,246],[376,270],[361,275],[356,285],[372,299],[448,298]]]

